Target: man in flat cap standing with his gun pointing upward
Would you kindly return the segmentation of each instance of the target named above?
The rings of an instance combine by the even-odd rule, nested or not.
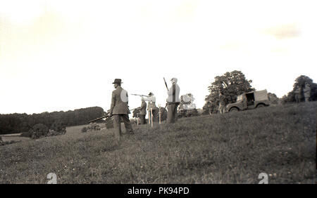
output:
[[[172,86],[168,90],[168,117],[166,123],[175,123],[178,117],[178,105],[180,105],[180,87],[178,86],[178,79],[170,79]]]

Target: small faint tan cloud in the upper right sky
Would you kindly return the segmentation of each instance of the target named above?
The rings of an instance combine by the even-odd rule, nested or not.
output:
[[[290,39],[299,37],[301,34],[299,25],[295,23],[269,27],[264,29],[263,32],[274,36],[276,39]]]

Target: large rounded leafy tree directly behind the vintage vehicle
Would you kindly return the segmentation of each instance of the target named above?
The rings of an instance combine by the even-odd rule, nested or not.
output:
[[[247,80],[241,71],[226,72],[222,76],[215,77],[215,81],[209,86],[209,95],[206,95],[204,112],[216,113],[219,105],[219,93],[223,92],[226,103],[235,103],[237,95],[254,91],[251,88],[251,80]]]

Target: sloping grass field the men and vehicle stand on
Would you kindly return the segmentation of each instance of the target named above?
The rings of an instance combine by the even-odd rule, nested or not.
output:
[[[0,183],[314,183],[317,103],[266,107],[0,147]],[[124,128],[123,128],[124,131]]]

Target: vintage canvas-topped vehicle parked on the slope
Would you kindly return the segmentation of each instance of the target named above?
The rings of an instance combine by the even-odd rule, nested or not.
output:
[[[225,107],[226,112],[237,112],[242,110],[252,110],[270,105],[268,91],[251,91],[237,96],[237,103],[229,104]]]

